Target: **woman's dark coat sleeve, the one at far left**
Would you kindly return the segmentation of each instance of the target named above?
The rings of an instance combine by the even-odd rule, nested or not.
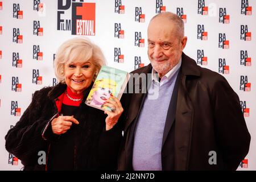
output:
[[[31,104],[5,136],[6,150],[22,160],[24,165],[35,159],[38,152],[46,147],[46,141],[42,138],[42,130],[47,121],[41,114],[41,106],[45,103],[36,99],[38,93],[39,91],[35,92]]]

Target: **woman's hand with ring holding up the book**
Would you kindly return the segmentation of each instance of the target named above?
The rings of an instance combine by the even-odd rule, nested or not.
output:
[[[117,123],[119,117],[123,113],[123,107],[118,98],[111,96],[108,100],[106,100],[104,106],[108,106],[112,108],[112,111],[105,110],[105,114],[108,114],[106,117],[106,130],[112,129],[113,126]]]

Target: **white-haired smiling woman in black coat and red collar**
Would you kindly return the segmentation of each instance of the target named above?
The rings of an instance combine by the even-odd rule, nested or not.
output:
[[[100,48],[88,39],[60,46],[54,62],[59,84],[36,91],[5,137],[6,150],[22,161],[24,170],[117,168],[120,101],[114,96],[105,101],[113,112],[84,103],[104,64]]]

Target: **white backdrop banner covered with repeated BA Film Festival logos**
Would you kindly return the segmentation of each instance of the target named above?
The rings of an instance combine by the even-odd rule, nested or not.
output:
[[[184,52],[224,76],[240,97],[251,144],[238,170],[256,170],[255,8],[254,0],[0,0],[0,169],[22,168],[5,150],[5,135],[35,90],[57,84],[61,43],[87,36],[110,67],[131,72],[150,63],[150,19],[171,11],[185,23]]]

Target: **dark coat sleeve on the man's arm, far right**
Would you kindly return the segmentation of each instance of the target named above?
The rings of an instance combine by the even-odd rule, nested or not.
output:
[[[224,151],[224,162],[228,169],[236,170],[250,146],[250,134],[240,99],[224,77],[216,82],[212,93],[217,142]]]

